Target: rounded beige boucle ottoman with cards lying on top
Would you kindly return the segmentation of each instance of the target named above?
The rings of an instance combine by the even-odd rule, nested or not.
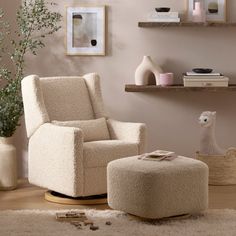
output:
[[[108,204],[149,219],[199,213],[208,207],[208,167],[177,157],[172,161],[112,161],[107,167]]]

